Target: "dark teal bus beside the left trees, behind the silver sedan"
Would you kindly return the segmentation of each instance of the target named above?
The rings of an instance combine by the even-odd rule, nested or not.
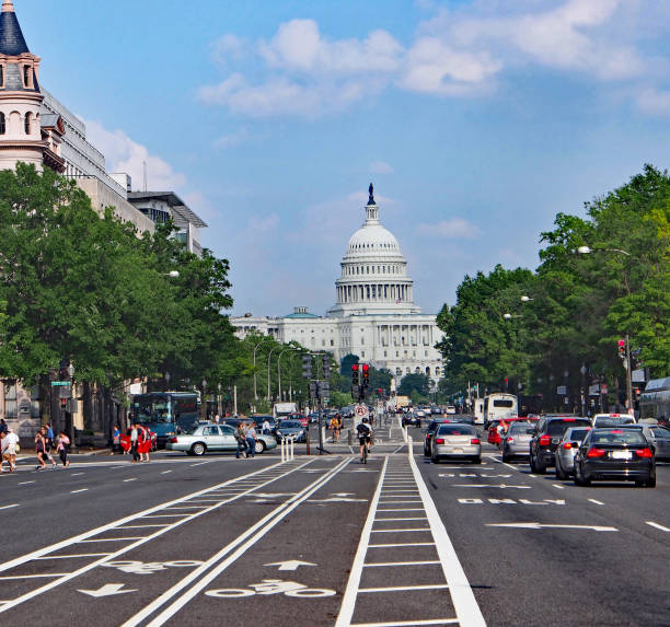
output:
[[[153,431],[159,448],[164,448],[170,438],[197,426],[198,395],[195,392],[135,394],[130,419]]]

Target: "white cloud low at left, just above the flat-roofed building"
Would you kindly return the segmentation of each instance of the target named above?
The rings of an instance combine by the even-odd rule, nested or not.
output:
[[[106,160],[107,172],[125,172],[132,177],[134,189],[139,189],[147,164],[147,185],[152,190],[172,190],[183,186],[186,177],[175,172],[166,161],[149,153],[149,149],[132,141],[123,130],[109,131],[99,121],[84,120],[88,140]]]

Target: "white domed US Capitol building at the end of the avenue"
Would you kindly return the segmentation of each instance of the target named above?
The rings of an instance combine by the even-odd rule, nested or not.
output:
[[[435,348],[442,333],[436,316],[414,303],[414,281],[397,240],[379,220],[372,184],[366,221],[351,235],[335,281],[337,303],[324,317],[296,307],[284,317],[246,314],[231,318],[241,338],[249,333],[272,335],[280,342],[297,341],[309,350],[327,350],[340,361],[360,357],[397,379],[408,373],[442,375],[442,356]]]

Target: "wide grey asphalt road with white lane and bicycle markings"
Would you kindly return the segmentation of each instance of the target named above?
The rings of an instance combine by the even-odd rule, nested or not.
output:
[[[24,462],[0,477],[0,620],[670,625],[669,465],[656,489],[577,488],[488,445],[434,465],[409,433],[412,457],[392,426],[367,465],[346,441]]]

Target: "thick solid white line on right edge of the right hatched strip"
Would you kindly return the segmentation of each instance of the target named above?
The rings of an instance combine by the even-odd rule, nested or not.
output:
[[[442,562],[442,571],[447,578],[451,591],[451,600],[455,607],[457,616],[461,622],[461,625],[467,625],[467,627],[486,627],[486,622],[482,615],[482,609],[477,604],[474,592],[467,581],[467,577],[459,561],[451,538],[447,533],[444,523],[440,519],[440,514],[435,507],[435,502],[419,469],[416,465],[414,457],[409,457],[409,466],[414,473],[414,478],[419,487],[419,494],[424,499],[424,507],[426,508],[426,515],[428,516],[428,524],[432,530],[432,537],[435,539],[436,548],[440,560]]]

